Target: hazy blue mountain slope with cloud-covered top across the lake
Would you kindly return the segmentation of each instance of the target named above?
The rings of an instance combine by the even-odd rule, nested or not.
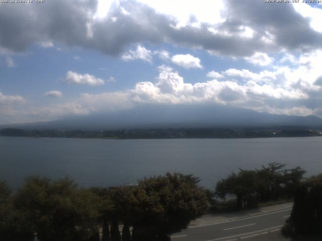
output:
[[[314,115],[270,114],[218,105],[142,105],[108,114],[77,116],[52,122],[3,125],[0,128],[108,130],[133,128],[195,127],[322,127]]]

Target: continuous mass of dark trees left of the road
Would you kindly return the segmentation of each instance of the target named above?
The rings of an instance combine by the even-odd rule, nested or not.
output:
[[[14,194],[0,182],[0,236],[28,241],[37,233],[41,241],[98,241],[103,227],[103,241],[164,240],[206,210],[198,182],[192,175],[167,173],[135,186],[79,188],[68,178],[35,176]]]

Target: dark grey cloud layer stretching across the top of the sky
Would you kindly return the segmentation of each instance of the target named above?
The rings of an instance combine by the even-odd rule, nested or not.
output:
[[[52,41],[117,55],[130,44],[168,42],[229,56],[321,47],[322,35],[312,30],[309,20],[296,13],[291,4],[225,3],[225,22],[202,23],[199,28],[190,25],[175,28],[174,17],[158,14],[134,1],[114,4],[107,18],[95,20],[96,1],[6,4],[0,6],[0,47],[20,52],[34,43]],[[124,14],[122,8],[130,14]],[[255,31],[253,37],[240,35],[245,26]],[[218,33],[213,34],[209,28]],[[274,38],[271,43],[263,41],[263,37],[270,37],[268,33]]]

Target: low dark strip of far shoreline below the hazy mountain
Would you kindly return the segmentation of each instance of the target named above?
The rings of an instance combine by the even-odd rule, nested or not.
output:
[[[321,128],[322,129],[322,128]],[[303,127],[275,128],[168,128],[168,129],[122,129],[122,130],[24,130],[5,128],[0,136],[6,137],[49,137],[88,139],[241,139],[277,137],[320,137],[321,129]]]

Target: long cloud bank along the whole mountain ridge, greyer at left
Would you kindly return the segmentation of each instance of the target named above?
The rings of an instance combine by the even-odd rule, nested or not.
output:
[[[299,63],[296,67],[284,65],[260,72],[230,68],[220,73],[211,71],[209,76],[212,76],[212,80],[196,80],[194,83],[186,82],[172,67],[162,65],[158,67],[159,74],[154,81],[139,82],[129,90],[85,93],[66,103],[32,106],[19,111],[8,106],[14,102],[23,103],[23,97],[0,94],[2,119],[9,115],[19,115],[21,118],[17,119],[20,120],[26,115],[30,119],[37,116],[37,120],[48,121],[69,115],[129,109],[142,103],[216,103],[279,114],[321,116],[322,69],[319,63],[322,62],[322,51],[313,51],[294,58]],[[214,78],[219,75],[220,81]]]

